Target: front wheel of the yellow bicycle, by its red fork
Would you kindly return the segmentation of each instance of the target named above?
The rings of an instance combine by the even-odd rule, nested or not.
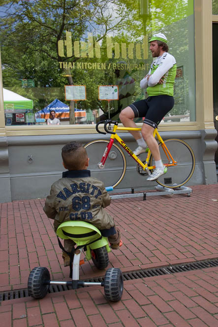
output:
[[[104,168],[99,168],[98,163],[100,163],[108,143],[109,141],[106,139],[95,139],[87,143],[84,148],[90,158],[88,169],[91,170],[91,176],[102,181],[105,187],[115,188],[124,178],[126,159],[121,148],[113,143]]]

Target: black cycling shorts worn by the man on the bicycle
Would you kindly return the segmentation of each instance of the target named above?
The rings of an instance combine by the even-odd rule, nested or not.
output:
[[[170,95],[155,95],[147,99],[133,102],[129,107],[135,118],[145,117],[144,124],[154,128],[174,106],[174,98]]]

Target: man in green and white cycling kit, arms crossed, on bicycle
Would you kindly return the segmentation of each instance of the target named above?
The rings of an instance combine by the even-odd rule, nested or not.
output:
[[[138,143],[138,147],[133,151],[135,155],[146,152],[147,145],[151,150],[156,169],[147,180],[154,181],[166,172],[166,168],[162,163],[153,132],[174,106],[173,87],[177,67],[174,56],[168,53],[167,38],[164,34],[153,35],[149,43],[152,56],[156,59],[152,62],[149,73],[140,82],[140,87],[146,89],[148,97],[123,109],[120,120],[125,127],[137,127],[133,118],[145,117],[142,135],[138,131],[130,131],[130,133]]]

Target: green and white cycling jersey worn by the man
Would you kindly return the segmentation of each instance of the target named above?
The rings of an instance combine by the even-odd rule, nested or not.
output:
[[[164,52],[161,56],[156,58],[148,73],[150,76],[144,78],[140,82],[140,87],[146,89],[148,96],[154,95],[170,95],[173,96],[173,87],[176,77],[176,59],[172,54]],[[163,83],[158,84],[159,80],[163,78]]]

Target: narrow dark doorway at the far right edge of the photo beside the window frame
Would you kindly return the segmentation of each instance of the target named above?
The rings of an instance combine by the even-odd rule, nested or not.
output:
[[[213,105],[214,105],[214,124],[218,131],[218,24],[213,24]],[[216,137],[218,142],[218,135]],[[218,168],[218,149],[215,153],[215,162]]]

